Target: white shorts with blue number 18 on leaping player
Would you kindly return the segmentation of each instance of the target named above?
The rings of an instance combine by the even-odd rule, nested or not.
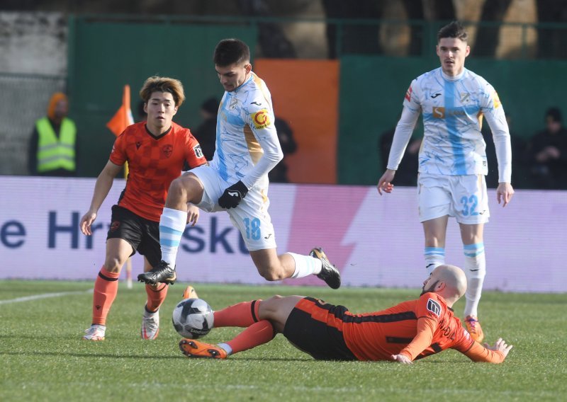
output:
[[[240,230],[248,251],[276,248],[276,234],[268,213],[270,200],[267,189],[254,186],[236,208],[224,209],[218,205],[218,198],[234,183],[227,183],[215,169],[207,165],[193,168],[191,173],[201,180],[204,188],[203,198],[197,207],[206,212],[228,212],[232,224]]]

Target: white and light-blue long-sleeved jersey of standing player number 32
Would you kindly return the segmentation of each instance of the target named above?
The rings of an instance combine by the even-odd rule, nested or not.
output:
[[[499,182],[511,182],[512,151],[503,106],[493,86],[468,69],[447,76],[439,67],[412,81],[396,126],[388,169],[397,169],[420,113],[424,138],[419,172],[441,175],[488,173],[481,127],[493,132]]]

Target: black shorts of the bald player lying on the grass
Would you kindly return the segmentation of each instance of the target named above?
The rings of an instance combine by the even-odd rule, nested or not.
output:
[[[289,314],[283,336],[316,360],[357,360],[342,336],[340,324],[347,311],[345,306],[305,297]]]

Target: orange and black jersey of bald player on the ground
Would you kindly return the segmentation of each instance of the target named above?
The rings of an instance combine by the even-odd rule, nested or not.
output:
[[[435,293],[374,313],[352,314],[320,300],[305,298],[296,309],[312,320],[342,333],[344,344],[358,360],[391,360],[402,353],[411,360],[448,348],[474,361],[502,362],[504,356],[476,343],[445,300]],[[329,331],[329,333],[333,333]]]

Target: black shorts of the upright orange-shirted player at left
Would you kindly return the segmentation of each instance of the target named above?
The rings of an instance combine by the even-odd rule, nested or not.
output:
[[[129,209],[113,205],[111,228],[106,240],[124,239],[136,251],[147,258],[152,267],[162,260],[162,249],[159,247],[159,222],[142,218]]]

